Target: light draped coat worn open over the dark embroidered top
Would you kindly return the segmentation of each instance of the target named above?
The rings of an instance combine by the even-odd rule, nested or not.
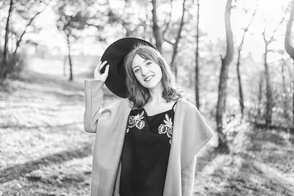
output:
[[[85,81],[84,128],[96,133],[91,196],[119,196],[121,154],[131,106],[127,98],[102,109],[103,84]],[[163,196],[192,196],[196,154],[213,132],[192,103],[176,104],[170,157]]]

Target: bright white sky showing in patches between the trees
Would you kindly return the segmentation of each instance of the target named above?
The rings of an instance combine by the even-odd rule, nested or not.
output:
[[[196,0],[195,0],[196,1]],[[257,13],[255,15],[255,19],[253,20],[249,31],[252,34],[247,33],[245,36],[245,44],[243,47],[243,53],[251,53],[253,58],[259,62],[262,59],[262,55],[264,53],[264,41],[262,37],[262,32],[265,27],[265,21],[263,19],[263,15],[266,22],[266,34],[272,35],[274,29],[277,28],[281,19],[285,16],[283,9],[285,5],[290,0],[259,0]],[[117,0],[110,0],[111,6],[120,6]],[[241,42],[241,38],[243,36],[243,30],[250,21],[252,14],[255,9],[257,0],[239,0],[237,2],[237,8],[232,9],[231,12],[231,24],[232,31],[234,34],[234,40],[236,45],[238,46]],[[225,39],[225,26],[224,26],[224,9],[226,5],[226,0],[199,0],[200,3],[200,22],[199,26],[203,32],[207,33],[207,39],[211,39],[216,42],[218,39]],[[249,12],[245,14],[241,8],[242,7],[250,8]],[[240,8],[241,7],[241,8]],[[161,8],[163,9],[163,8]],[[167,8],[169,9],[169,8]],[[140,11],[140,10],[138,10]],[[158,9],[158,15],[160,17],[160,11]],[[195,10],[196,13],[196,10]],[[181,15],[181,4],[178,1],[178,4],[174,4],[173,6],[173,17],[177,18]],[[63,34],[59,33],[55,27],[55,20],[53,20],[56,16],[49,9],[49,7],[39,15],[36,19],[35,23],[37,25],[42,26],[44,29],[40,31],[39,35],[34,35],[31,39],[38,41],[39,44],[47,45],[49,48],[53,48],[54,46],[58,46],[62,49],[64,53],[67,52],[66,39]],[[50,20],[49,20],[50,19]],[[288,21],[289,18],[286,18]],[[276,42],[272,43],[270,47],[274,49],[283,49],[284,48],[284,34],[285,34],[285,25],[281,25],[276,32]],[[96,29],[92,28],[85,31],[85,35],[95,33]],[[113,38],[115,41],[115,38]],[[90,55],[102,55],[105,47],[95,43],[95,40],[92,38],[87,38],[84,43],[77,43],[73,45],[73,53],[78,54],[80,50],[83,50],[83,53]],[[274,54],[269,56],[269,61],[273,61],[276,58],[279,58]]]

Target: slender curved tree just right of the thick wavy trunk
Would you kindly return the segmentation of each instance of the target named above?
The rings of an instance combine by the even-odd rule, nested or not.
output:
[[[238,58],[237,58],[237,75],[238,75],[238,84],[239,84],[239,103],[240,103],[240,107],[241,107],[241,118],[243,119],[243,115],[244,115],[244,98],[243,98],[243,90],[242,90],[242,82],[241,82],[241,74],[240,74],[240,59],[241,59],[241,51],[243,48],[243,44],[244,44],[244,38],[245,38],[245,34],[248,31],[249,26],[251,25],[251,22],[253,20],[253,17],[256,13],[257,10],[257,4],[258,4],[258,0],[256,2],[256,6],[255,6],[255,10],[253,12],[253,15],[251,17],[251,20],[249,22],[249,24],[246,26],[246,28],[244,29],[244,33],[242,36],[242,41],[238,47]],[[247,11],[246,11],[247,12]]]

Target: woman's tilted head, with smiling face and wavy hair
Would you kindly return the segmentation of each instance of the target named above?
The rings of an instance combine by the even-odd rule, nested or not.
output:
[[[165,102],[185,97],[185,91],[177,84],[171,66],[152,47],[138,44],[125,57],[124,68],[129,76],[126,78],[128,98],[133,101],[134,107],[148,107],[152,103],[165,105]]]

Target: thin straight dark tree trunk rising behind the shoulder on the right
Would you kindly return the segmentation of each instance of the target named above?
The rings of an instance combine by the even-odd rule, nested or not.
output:
[[[196,34],[196,67],[195,67],[195,94],[196,94],[196,107],[199,109],[200,102],[199,102],[199,53],[198,53],[198,43],[199,43],[199,0],[197,0],[197,34]]]

